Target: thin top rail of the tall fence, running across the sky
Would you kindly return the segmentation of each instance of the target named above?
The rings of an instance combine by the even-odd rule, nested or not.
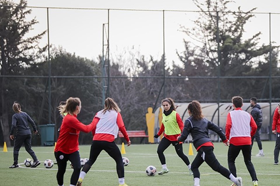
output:
[[[69,10],[122,10],[122,11],[149,11],[149,12],[218,12],[218,13],[249,13],[249,14],[280,14],[278,12],[243,12],[243,11],[202,11],[202,10],[155,10],[155,9],[122,9],[122,8],[73,8],[73,7],[46,7],[46,6],[11,6],[0,5],[0,7],[18,7],[18,8],[46,8],[46,9],[69,9]]]

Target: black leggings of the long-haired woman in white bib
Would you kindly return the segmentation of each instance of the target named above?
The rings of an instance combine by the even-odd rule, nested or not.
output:
[[[85,163],[83,166],[82,171],[87,173],[91,166],[94,164],[96,161],[98,155],[101,153],[102,150],[105,150],[106,153],[108,153],[109,156],[111,156],[117,166],[117,173],[118,173],[118,178],[124,178],[125,177],[125,170],[123,167],[123,162],[122,162],[122,155],[120,153],[120,149],[118,146],[115,144],[115,142],[108,142],[108,141],[92,141],[91,147],[90,147],[90,158],[89,160]]]

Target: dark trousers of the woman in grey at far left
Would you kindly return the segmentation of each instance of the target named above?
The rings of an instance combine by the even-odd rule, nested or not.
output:
[[[15,143],[14,143],[14,164],[17,165],[18,163],[18,153],[22,144],[24,143],[25,150],[31,155],[34,162],[37,161],[37,157],[34,151],[31,149],[31,134],[19,136],[15,136]]]

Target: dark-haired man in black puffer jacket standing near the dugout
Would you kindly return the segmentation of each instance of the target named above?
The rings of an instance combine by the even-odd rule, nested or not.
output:
[[[265,156],[262,150],[262,142],[260,141],[260,127],[262,126],[262,109],[259,104],[257,104],[257,98],[253,97],[250,99],[250,105],[252,107],[251,115],[254,118],[256,124],[257,124],[257,132],[252,137],[252,148],[253,148],[253,142],[254,139],[256,139],[259,147],[259,153],[256,154],[256,156]]]

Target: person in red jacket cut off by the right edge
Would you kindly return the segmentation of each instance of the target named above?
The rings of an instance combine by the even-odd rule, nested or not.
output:
[[[276,107],[273,114],[272,133],[276,134],[276,143],[274,148],[274,165],[278,165],[278,157],[280,151],[280,103]]]

